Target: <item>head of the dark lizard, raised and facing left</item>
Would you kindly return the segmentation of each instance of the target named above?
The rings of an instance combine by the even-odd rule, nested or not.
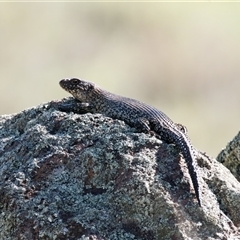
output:
[[[71,93],[73,97],[81,102],[86,101],[87,96],[91,95],[92,90],[95,88],[94,83],[78,78],[62,79],[59,84],[64,90]]]

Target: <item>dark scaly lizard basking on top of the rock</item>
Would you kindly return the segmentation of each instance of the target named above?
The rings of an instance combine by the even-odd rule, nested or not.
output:
[[[115,95],[97,85],[77,78],[63,79],[60,86],[76,98],[74,108],[78,113],[101,113],[123,120],[140,131],[153,131],[164,141],[178,146],[187,163],[195,194],[201,206],[199,184],[196,172],[196,150],[192,146],[186,128],[174,123],[167,115],[140,101]]]

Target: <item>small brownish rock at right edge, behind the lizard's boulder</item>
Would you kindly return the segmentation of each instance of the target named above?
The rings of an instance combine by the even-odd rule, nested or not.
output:
[[[240,132],[219,153],[217,160],[228,168],[237,180],[240,181]]]

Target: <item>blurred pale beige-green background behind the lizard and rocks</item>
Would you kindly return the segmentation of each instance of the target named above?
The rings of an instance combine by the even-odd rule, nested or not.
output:
[[[213,157],[239,131],[238,4],[5,2],[0,16],[0,114],[78,77],[157,107]]]

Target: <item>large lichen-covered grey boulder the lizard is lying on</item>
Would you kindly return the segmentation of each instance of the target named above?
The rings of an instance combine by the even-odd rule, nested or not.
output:
[[[199,156],[200,208],[174,145],[58,110],[71,101],[0,117],[0,239],[240,239],[240,183],[222,164]]]

